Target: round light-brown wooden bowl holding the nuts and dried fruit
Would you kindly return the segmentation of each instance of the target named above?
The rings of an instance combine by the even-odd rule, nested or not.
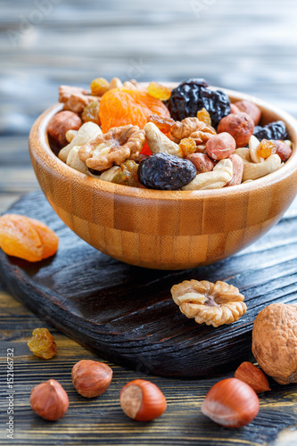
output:
[[[205,191],[140,189],[87,177],[49,146],[48,122],[62,108],[56,104],[29,136],[33,168],[54,211],[97,250],[145,268],[195,268],[252,244],[281,219],[297,192],[296,120],[252,96],[223,91],[232,102],[256,103],[262,125],[285,121],[293,154],[281,169],[251,183]]]

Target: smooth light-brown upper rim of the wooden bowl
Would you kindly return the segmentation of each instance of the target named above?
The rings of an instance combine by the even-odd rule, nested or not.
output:
[[[163,85],[167,85],[168,87],[176,87],[178,83],[176,82],[163,82]],[[140,83],[142,87],[146,87],[148,83]],[[248,183],[243,183],[237,186],[230,187],[222,187],[219,189],[207,189],[207,190],[194,190],[194,191],[181,191],[181,190],[155,190],[155,189],[146,189],[140,187],[131,187],[131,186],[123,186],[111,183],[109,181],[104,181],[100,178],[93,178],[87,176],[78,170],[70,168],[66,163],[59,159],[57,155],[54,154],[52,149],[50,148],[48,136],[47,136],[47,126],[49,120],[54,116],[58,111],[62,111],[62,103],[55,103],[52,107],[45,110],[35,121],[33,124],[30,134],[29,134],[29,150],[34,153],[34,156],[38,159],[42,160],[45,164],[48,162],[48,159],[51,160],[52,169],[56,169],[59,173],[64,175],[67,178],[73,176],[76,181],[81,183],[81,186],[92,188],[97,191],[101,191],[104,193],[118,194],[122,196],[136,197],[138,199],[153,199],[153,200],[165,200],[165,201],[176,201],[177,199],[182,198],[183,200],[197,200],[197,199],[207,199],[207,198],[219,198],[226,197],[232,194],[238,194],[239,192],[252,192],[262,187],[270,186],[271,184],[275,184],[282,179],[293,174],[295,169],[297,169],[297,120],[287,113],[279,109],[278,107],[267,103],[255,97],[253,95],[247,95],[244,93],[237,92],[235,90],[222,88],[222,87],[213,87],[210,86],[211,89],[220,90],[226,93],[231,102],[238,100],[248,100],[252,101],[252,103],[256,103],[260,109],[263,111],[269,111],[276,115],[278,115],[278,119],[284,120],[285,125],[289,130],[290,139],[293,142],[293,153],[288,161],[275,172],[268,174],[265,177],[258,178]],[[37,144],[36,144],[37,137]]]

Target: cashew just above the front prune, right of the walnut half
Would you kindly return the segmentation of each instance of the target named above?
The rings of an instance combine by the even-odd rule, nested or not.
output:
[[[170,155],[176,155],[179,158],[183,157],[183,153],[180,151],[179,146],[164,135],[153,122],[147,122],[147,124],[145,124],[144,132],[147,144],[152,153],[169,153]]]

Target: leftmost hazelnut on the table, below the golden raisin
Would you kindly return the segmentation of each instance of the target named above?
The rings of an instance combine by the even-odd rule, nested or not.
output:
[[[44,419],[56,421],[67,412],[69,399],[62,385],[49,379],[33,387],[30,396],[31,408]]]

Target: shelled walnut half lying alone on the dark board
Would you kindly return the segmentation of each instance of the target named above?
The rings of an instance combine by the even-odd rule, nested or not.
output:
[[[238,288],[218,280],[185,280],[171,288],[173,300],[187,318],[208,326],[232,324],[243,316],[246,305]]]

